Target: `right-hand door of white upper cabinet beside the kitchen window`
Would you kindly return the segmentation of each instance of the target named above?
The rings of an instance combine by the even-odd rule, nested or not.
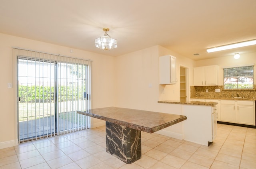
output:
[[[205,85],[218,85],[218,66],[206,66],[205,71]]]

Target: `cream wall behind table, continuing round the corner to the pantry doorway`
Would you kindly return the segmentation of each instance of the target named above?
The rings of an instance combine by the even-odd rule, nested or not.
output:
[[[190,70],[193,67],[194,61],[161,46],[116,57],[116,106],[171,114],[182,113],[180,104],[158,103],[158,100],[180,99],[179,81],[175,85],[159,85],[158,58],[162,55],[176,57],[177,77],[179,77],[180,65]],[[165,128],[160,133],[182,139],[182,123]]]

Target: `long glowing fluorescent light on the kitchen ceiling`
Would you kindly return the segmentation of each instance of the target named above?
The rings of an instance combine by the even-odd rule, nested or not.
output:
[[[250,45],[256,45],[256,39],[239,42],[239,43],[233,43],[233,44],[224,45],[224,46],[213,47],[213,48],[207,49],[206,51],[210,53],[210,52],[223,51],[227,49],[234,49],[237,47],[244,47],[244,46],[250,46]]]

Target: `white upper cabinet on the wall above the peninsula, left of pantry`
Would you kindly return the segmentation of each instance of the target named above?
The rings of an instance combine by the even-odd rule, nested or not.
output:
[[[159,84],[168,85],[177,83],[176,57],[172,55],[159,57]]]

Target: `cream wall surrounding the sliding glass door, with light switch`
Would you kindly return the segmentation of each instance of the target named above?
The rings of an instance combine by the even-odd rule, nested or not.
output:
[[[81,59],[91,59],[92,63],[92,108],[104,106],[113,106],[115,102],[115,81],[114,79],[114,57],[99,55],[69,47],[34,41],[21,37],[15,37],[0,33],[0,149],[17,144],[18,127],[17,127],[17,110],[15,108],[16,96],[15,90],[17,85],[12,84],[12,88],[7,88],[8,83],[13,83],[14,67],[12,57],[12,47],[21,47],[47,53],[54,53],[76,57]],[[93,119],[94,124],[102,124],[101,120]]]

